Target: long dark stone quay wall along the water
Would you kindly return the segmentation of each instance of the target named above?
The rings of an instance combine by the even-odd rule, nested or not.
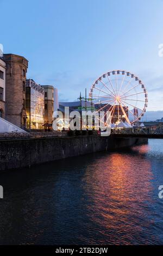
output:
[[[144,138],[74,136],[21,138],[0,141],[0,170],[29,167],[97,151],[114,150],[146,143]]]

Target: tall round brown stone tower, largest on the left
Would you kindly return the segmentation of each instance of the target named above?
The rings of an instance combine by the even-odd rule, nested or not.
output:
[[[5,90],[5,116],[11,123],[21,127],[27,125],[26,73],[28,60],[16,54],[4,54],[7,64]]]

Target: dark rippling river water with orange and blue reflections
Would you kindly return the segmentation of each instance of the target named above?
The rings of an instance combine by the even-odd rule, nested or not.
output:
[[[163,244],[163,140],[0,174],[1,245]]]

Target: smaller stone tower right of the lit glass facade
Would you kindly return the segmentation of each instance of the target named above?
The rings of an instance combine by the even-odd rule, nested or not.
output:
[[[44,122],[49,121],[49,123],[52,123],[52,115],[54,112],[54,87],[42,86],[42,88],[44,89],[45,103]]]

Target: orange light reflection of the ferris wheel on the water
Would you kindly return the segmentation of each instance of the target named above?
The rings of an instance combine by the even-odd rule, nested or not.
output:
[[[139,240],[142,227],[147,228],[148,224],[141,222],[152,203],[153,174],[145,157],[148,150],[148,145],[142,145],[134,148],[134,154],[112,153],[87,167],[85,191],[93,200],[90,217],[106,236],[114,230],[110,242],[116,243],[116,234],[121,233],[120,243],[129,244],[131,236],[133,241]]]

